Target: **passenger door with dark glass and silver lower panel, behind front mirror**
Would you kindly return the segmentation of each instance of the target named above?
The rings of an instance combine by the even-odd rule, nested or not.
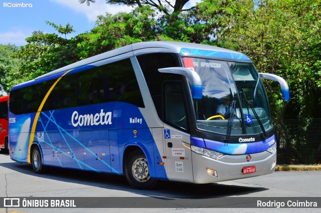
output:
[[[164,141],[170,180],[193,182],[190,134],[182,81],[163,83]]]

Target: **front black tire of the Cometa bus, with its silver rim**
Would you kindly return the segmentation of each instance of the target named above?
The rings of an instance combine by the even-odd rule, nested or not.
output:
[[[137,189],[151,189],[157,183],[149,176],[147,158],[141,150],[135,150],[128,156],[125,174],[129,184]]]

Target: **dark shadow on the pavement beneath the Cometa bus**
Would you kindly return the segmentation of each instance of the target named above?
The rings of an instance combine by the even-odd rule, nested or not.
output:
[[[31,164],[19,164],[14,161],[10,163],[0,163],[0,167],[5,167],[20,173],[37,176],[40,178],[85,184],[89,186],[106,189],[112,188],[113,190],[128,191],[151,197],[159,196],[180,198],[211,198],[246,195],[254,192],[268,190],[268,188],[264,187],[227,185],[224,184],[224,182],[209,184],[192,184],[171,181],[159,181],[159,183],[153,190],[137,190],[130,187],[124,176],[115,174],[97,173],[74,169],[63,169],[57,167],[49,167],[48,172],[45,174],[36,174],[33,172]]]

